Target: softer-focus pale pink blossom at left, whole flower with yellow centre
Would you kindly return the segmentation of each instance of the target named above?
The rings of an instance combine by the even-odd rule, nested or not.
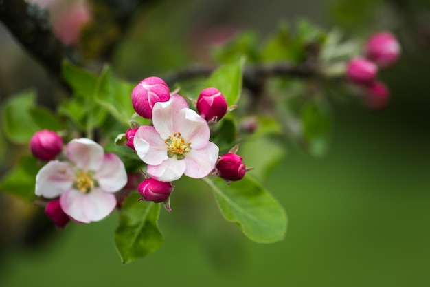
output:
[[[60,197],[60,206],[82,223],[102,220],[117,204],[114,193],[127,183],[124,164],[114,153],[104,153],[88,138],[67,145],[70,162],[52,160],[36,176],[36,195]]]

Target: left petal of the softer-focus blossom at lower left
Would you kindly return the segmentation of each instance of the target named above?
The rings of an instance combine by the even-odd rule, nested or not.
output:
[[[73,184],[74,172],[69,164],[52,160],[36,176],[36,195],[56,198]]]

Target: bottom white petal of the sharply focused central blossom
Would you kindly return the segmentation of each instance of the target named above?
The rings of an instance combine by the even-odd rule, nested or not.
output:
[[[183,175],[186,165],[184,160],[177,160],[176,156],[164,160],[159,165],[148,165],[148,173],[152,178],[161,182],[172,182]]]

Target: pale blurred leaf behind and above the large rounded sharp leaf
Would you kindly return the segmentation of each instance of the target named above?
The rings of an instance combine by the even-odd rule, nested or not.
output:
[[[278,142],[267,137],[259,137],[240,144],[238,153],[247,167],[254,168],[248,171],[247,175],[262,182],[285,156],[286,145],[284,144],[282,147]]]

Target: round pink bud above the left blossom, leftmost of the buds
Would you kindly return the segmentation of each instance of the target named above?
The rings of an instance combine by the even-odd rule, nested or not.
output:
[[[41,160],[54,160],[63,149],[63,139],[55,131],[37,131],[30,140],[33,156]]]

